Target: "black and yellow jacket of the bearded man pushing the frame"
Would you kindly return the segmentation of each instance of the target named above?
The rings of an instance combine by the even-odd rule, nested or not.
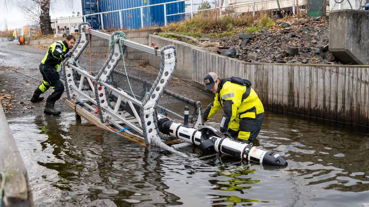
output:
[[[58,69],[64,58],[64,54],[69,51],[69,48],[66,47],[66,45],[67,43],[65,41],[57,41],[52,43],[47,50],[44,59],[41,60],[41,63]]]

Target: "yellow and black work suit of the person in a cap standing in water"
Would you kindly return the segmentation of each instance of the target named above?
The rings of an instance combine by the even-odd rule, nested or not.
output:
[[[204,119],[208,120],[220,107],[224,110],[221,133],[228,132],[233,136],[238,133],[239,141],[243,142],[255,140],[264,119],[264,107],[249,80],[236,77],[221,79],[214,101],[205,109]]]

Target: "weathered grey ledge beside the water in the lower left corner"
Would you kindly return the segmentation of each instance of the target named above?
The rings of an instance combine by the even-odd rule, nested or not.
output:
[[[0,105],[0,172],[6,175],[1,206],[33,206],[27,171]]]

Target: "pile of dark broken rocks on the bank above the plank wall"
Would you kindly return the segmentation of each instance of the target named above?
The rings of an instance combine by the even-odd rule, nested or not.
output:
[[[327,18],[276,22],[272,29],[203,42],[210,52],[252,63],[341,64],[328,49]]]

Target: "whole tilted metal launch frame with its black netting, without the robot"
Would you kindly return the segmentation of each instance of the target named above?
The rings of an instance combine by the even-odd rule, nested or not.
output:
[[[116,39],[120,41],[112,43]],[[100,119],[97,126],[109,126],[113,131],[142,138],[146,144],[173,151],[173,147],[164,144],[173,137],[159,131],[157,113],[183,122],[179,114],[183,107],[179,107],[190,105],[192,124],[203,124],[201,102],[165,89],[176,65],[173,45],[159,50],[129,41],[121,33],[109,35],[91,29],[87,22],[81,23],[72,57],[62,65],[67,105],[93,124],[97,124],[95,117]],[[163,97],[166,99],[161,101]],[[171,102],[173,106],[160,105],[161,102]]]

